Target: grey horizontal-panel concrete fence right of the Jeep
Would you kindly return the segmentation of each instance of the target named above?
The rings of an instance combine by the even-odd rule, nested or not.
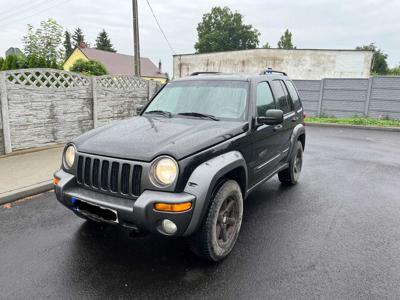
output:
[[[400,119],[400,76],[294,80],[310,116]]]

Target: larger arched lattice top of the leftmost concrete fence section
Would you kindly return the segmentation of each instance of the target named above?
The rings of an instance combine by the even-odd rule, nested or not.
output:
[[[30,86],[35,88],[80,88],[90,85],[88,77],[53,69],[23,69],[7,71],[9,84]]]

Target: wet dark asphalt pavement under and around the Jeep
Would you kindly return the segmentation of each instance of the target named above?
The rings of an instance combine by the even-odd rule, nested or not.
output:
[[[308,128],[300,183],[244,206],[222,263],[85,223],[52,192],[0,209],[0,298],[399,298],[400,133]]]

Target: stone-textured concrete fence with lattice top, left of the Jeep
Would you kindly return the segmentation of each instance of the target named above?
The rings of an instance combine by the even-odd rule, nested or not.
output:
[[[160,87],[134,76],[87,77],[53,69],[0,72],[0,155],[65,143],[132,117]]]

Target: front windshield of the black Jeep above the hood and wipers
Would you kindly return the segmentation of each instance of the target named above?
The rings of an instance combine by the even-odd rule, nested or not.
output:
[[[181,81],[168,84],[146,108],[146,113],[244,120],[247,113],[248,82]],[[191,113],[191,114],[190,114]],[[183,115],[182,115],[183,114]]]

